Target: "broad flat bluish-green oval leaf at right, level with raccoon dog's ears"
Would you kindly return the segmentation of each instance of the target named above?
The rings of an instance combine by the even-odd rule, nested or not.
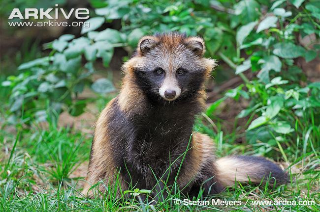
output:
[[[296,46],[293,43],[284,42],[275,44],[272,53],[282,58],[292,59],[302,56],[305,53],[305,49],[301,46]]]

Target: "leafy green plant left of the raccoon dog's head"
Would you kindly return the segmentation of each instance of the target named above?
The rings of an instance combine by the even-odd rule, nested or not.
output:
[[[21,64],[18,67],[19,71],[23,71],[20,75],[9,76],[2,82],[2,86],[12,89],[10,112],[20,116],[24,105],[25,116],[35,115],[39,121],[46,119],[46,109],[58,114],[65,109],[77,116],[83,113],[86,103],[90,101],[77,99],[85,85],[92,85],[92,89],[99,94],[115,90],[108,79],[98,79],[92,83],[90,78],[95,71],[93,62],[96,57],[101,57],[106,66],[110,62],[113,46],[108,41],[86,37],[74,39],[73,35],[64,34],[47,44],[46,48],[52,49],[50,56]],[[84,66],[82,55],[87,59]],[[29,120],[27,118],[25,122]]]

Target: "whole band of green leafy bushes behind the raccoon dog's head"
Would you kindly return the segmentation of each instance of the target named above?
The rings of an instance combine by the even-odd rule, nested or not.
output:
[[[284,140],[298,148],[302,145],[303,152],[316,148],[309,141],[319,140],[320,83],[306,81],[296,62],[299,57],[309,62],[319,54],[320,12],[316,1],[91,2],[96,17],[87,20],[90,27],[82,28],[83,36],[62,35],[45,45],[52,50],[49,56],[21,64],[20,75],[2,82],[2,86],[11,87],[10,114],[21,116],[24,111],[22,120],[26,123],[28,117],[41,121],[48,114],[57,117],[63,110],[81,114],[88,100],[78,100],[77,96],[85,86],[99,94],[114,91],[108,79],[93,82],[97,58],[108,67],[115,47],[126,47],[131,53],[141,36],[177,30],[202,36],[206,56],[219,57],[243,79],[244,84],[225,96],[250,101],[238,117],[250,116],[249,122],[254,119],[247,125],[246,136],[250,143],[258,139],[265,144],[257,147],[258,151],[280,148]],[[121,19],[120,30],[96,31],[116,19]],[[310,43],[301,43],[306,36]],[[247,70],[256,78],[247,79]],[[209,107],[208,115],[226,97]]]

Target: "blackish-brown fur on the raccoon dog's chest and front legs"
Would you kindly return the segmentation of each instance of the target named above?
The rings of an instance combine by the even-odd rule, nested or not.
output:
[[[174,175],[187,149],[194,116],[199,113],[197,103],[149,105],[146,112],[129,116],[117,101],[113,108],[108,134],[125,178],[148,187],[154,174],[161,177],[170,164]]]

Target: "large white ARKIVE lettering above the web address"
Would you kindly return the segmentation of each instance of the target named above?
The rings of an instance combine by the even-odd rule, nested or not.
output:
[[[55,5],[58,7],[58,4]],[[49,13],[51,11],[55,11],[54,17],[50,15]],[[89,9],[87,8],[72,8],[69,12],[64,11],[63,8],[48,8],[44,10],[43,8],[37,9],[37,8],[26,8],[25,9],[25,14],[21,13],[19,8],[14,8],[9,16],[9,19],[13,18],[19,18],[19,19],[59,19],[59,12],[61,11],[62,15],[64,16],[65,19],[69,19],[71,15],[74,13],[75,17],[77,19],[88,19],[89,18]]]

